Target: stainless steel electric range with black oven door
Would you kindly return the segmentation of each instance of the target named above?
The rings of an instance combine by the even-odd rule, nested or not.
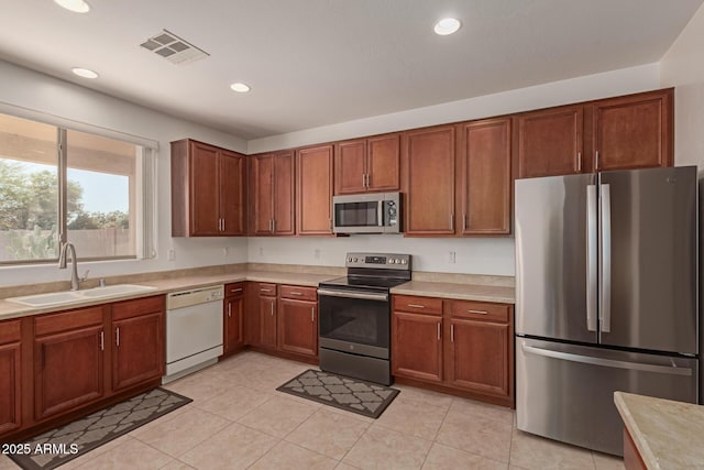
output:
[[[320,369],[391,385],[392,287],[410,254],[348,253],[348,275],[318,285]]]

